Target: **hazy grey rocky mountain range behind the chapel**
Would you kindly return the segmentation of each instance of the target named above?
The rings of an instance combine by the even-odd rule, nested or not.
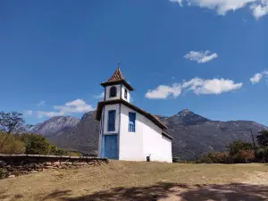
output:
[[[38,123],[33,132],[44,135],[51,143],[65,149],[96,155],[99,121],[96,111],[85,113],[79,120],[71,116],[53,117]],[[235,139],[252,141],[260,130],[268,128],[255,121],[213,121],[188,109],[172,116],[156,115],[168,127],[172,153],[180,159],[193,159],[207,152],[224,151]]]

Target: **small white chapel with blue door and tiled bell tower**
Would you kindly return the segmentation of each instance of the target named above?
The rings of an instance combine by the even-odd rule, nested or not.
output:
[[[100,121],[98,156],[125,161],[172,163],[172,137],[156,116],[130,103],[134,90],[120,69],[101,83],[105,98],[96,109]]]

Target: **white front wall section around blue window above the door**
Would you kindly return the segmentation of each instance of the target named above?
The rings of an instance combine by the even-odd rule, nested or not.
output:
[[[118,133],[119,128],[119,104],[105,105],[105,121],[104,121],[104,134],[114,134]],[[108,113],[110,110],[115,110],[115,130],[108,131]]]

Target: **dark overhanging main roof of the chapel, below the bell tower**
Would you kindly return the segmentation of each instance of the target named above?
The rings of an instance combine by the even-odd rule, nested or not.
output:
[[[102,111],[103,111],[103,107],[104,105],[113,105],[113,104],[123,104],[126,105],[128,107],[130,107],[132,110],[143,114],[144,116],[147,117],[147,119],[149,119],[150,121],[153,121],[155,123],[156,126],[158,126],[161,129],[167,129],[166,125],[163,124],[163,122],[161,122],[158,118],[155,118],[155,116],[151,113],[147,113],[146,111],[140,109],[139,107],[130,104],[129,102],[123,100],[123,99],[115,99],[115,100],[108,100],[108,101],[100,101],[97,104],[97,108],[96,108],[96,120],[100,121],[101,119],[101,115],[102,115]]]

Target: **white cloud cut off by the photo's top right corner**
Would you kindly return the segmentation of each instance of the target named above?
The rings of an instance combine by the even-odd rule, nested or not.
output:
[[[224,15],[229,11],[236,11],[240,8],[251,5],[253,15],[256,19],[267,14],[267,0],[170,0],[182,6],[187,3],[188,6],[197,5],[199,7],[215,10],[218,14]],[[248,6],[247,6],[248,7]]]

